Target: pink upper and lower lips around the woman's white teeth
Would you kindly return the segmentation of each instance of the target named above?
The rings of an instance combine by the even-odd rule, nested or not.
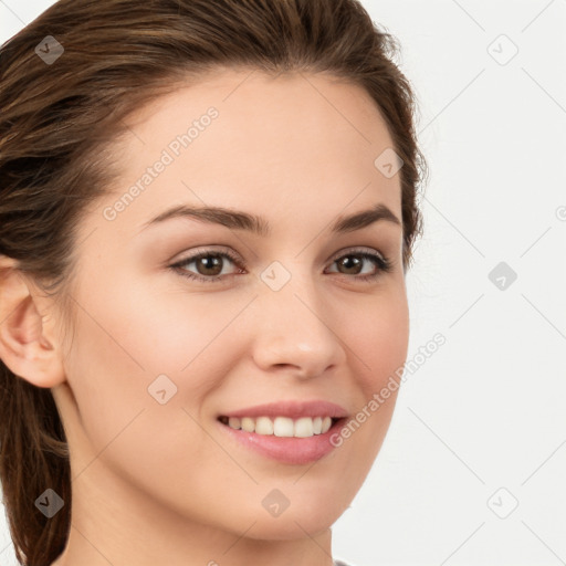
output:
[[[220,420],[218,424],[232,440],[265,458],[287,464],[307,464],[319,460],[336,448],[331,443],[331,438],[343,427],[347,415],[343,407],[327,401],[281,401],[256,405],[221,415],[221,417],[238,418],[289,417],[291,419],[298,419],[301,417],[332,417],[335,419],[335,422],[327,432],[308,438],[256,434],[255,432],[232,429]]]

